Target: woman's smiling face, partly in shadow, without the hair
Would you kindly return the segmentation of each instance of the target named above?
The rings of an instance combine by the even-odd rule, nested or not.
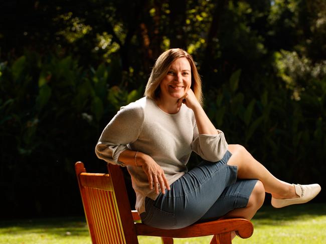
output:
[[[176,59],[159,84],[160,99],[180,99],[191,87],[191,66],[186,57]]]

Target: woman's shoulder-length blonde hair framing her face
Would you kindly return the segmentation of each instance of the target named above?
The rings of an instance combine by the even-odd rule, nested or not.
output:
[[[186,57],[191,66],[191,89],[194,91],[197,100],[203,104],[202,80],[192,56],[181,48],[169,49],[159,55],[151,70],[146,84],[144,95],[156,100],[160,94],[159,84],[167,75],[171,64],[180,57]]]

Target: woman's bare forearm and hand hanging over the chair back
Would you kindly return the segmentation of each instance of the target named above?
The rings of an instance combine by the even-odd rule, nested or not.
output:
[[[155,188],[158,194],[158,183],[162,193],[165,193],[165,188],[170,190],[168,179],[166,178],[163,169],[154,161],[154,159],[140,151],[124,150],[120,153],[118,160],[127,165],[140,166],[146,173],[149,183],[149,189]]]

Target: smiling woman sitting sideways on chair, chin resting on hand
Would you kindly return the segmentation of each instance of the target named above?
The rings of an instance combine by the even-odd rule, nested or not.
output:
[[[275,178],[243,146],[227,144],[202,108],[193,58],[179,48],[158,57],[145,96],[121,107],[95,151],[127,166],[142,222],[158,228],[221,216],[251,219],[265,192],[272,194],[274,207],[283,207],[307,202],[320,191],[318,184]],[[188,172],[192,151],[204,161]]]

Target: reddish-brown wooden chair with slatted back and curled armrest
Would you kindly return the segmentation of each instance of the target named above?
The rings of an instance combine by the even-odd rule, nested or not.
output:
[[[135,222],[120,166],[107,164],[109,174],[87,173],[82,162],[75,169],[92,243],[138,243],[138,235],[159,236],[165,244],[175,238],[214,235],[210,243],[232,243],[231,231],[242,238],[253,233],[253,225],[243,218],[194,223],[180,229],[159,229]]]

